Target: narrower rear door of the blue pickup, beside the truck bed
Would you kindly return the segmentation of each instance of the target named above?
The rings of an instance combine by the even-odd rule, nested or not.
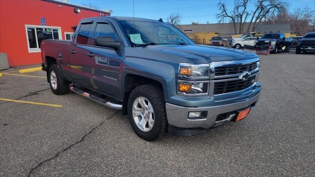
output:
[[[69,65],[71,78],[80,84],[87,85],[87,68],[86,55],[87,48],[90,42],[90,35],[93,26],[93,21],[83,22],[78,27],[75,39],[69,50]]]

